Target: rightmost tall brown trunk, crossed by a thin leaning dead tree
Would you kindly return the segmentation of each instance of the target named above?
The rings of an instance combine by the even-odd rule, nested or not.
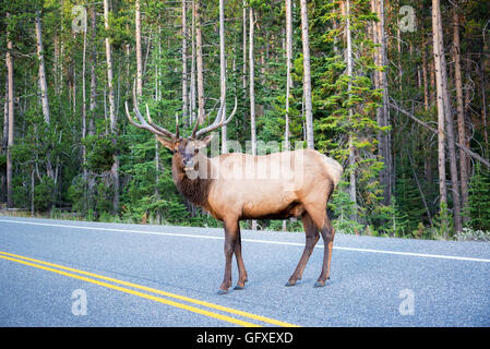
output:
[[[453,9],[454,19],[454,80],[456,88],[456,104],[457,104],[457,130],[459,143],[466,142],[466,125],[465,125],[465,109],[463,101],[463,81],[462,81],[462,65],[461,65],[461,45],[459,45],[459,14],[456,8]],[[468,165],[467,156],[463,149],[459,148],[459,174],[461,174],[461,193],[463,207],[468,206]],[[467,221],[469,217],[463,217]]]

